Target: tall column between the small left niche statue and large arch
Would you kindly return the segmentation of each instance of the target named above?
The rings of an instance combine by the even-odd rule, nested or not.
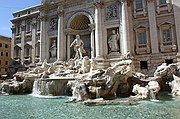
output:
[[[58,11],[58,38],[57,38],[57,60],[65,60],[65,50],[64,50],[64,21],[63,21],[63,11]]]

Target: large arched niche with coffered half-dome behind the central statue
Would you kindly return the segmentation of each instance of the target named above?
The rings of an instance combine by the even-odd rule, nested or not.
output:
[[[93,20],[90,15],[84,12],[79,12],[74,14],[69,22],[68,29],[70,29],[70,43],[75,39],[77,34],[80,35],[81,39],[84,42],[84,49],[86,50],[86,56],[91,58],[92,45],[91,45],[91,30],[89,24],[92,24]],[[75,52],[74,49],[70,49],[70,57],[74,57]]]

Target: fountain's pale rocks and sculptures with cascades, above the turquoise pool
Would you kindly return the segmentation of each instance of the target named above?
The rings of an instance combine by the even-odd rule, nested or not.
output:
[[[180,95],[178,63],[163,63],[157,67],[154,77],[147,77],[133,71],[133,57],[127,53],[118,61],[111,62],[108,68],[98,69],[96,59],[83,56],[83,42],[78,40],[79,36],[71,44],[76,52],[74,59],[54,63],[47,63],[45,59],[35,68],[17,72],[14,79],[0,84],[1,93],[32,93],[35,96],[62,96],[69,93],[72,97],[68,102],[133,104],[140,99],[156,100],[160,89],[166,90],[168,82],[172,94]],[[131,96],[132,94],[135,95]],[[114,102],[104,100],[108,97],[116,98],[118,95],[126,95],[129,98],[126,101]]]

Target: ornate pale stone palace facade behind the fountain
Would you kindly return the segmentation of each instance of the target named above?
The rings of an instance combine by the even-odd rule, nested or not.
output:
[[[136,71],[152,74],[180,57],[179,0],[41,0],[13,16],[11,57],[22,64],[74,57],[77,34],[100,68],[130,52]]]

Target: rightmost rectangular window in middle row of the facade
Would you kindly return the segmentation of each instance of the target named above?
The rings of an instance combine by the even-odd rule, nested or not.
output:
[[[163,42],[171,42],[172,36],[171,36],[171,29],[164,29],[163,31]]]

